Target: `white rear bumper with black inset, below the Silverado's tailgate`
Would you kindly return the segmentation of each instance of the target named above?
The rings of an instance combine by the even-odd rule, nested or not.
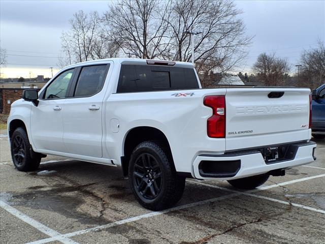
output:
[[[194,177],[198,179],[237,179],[264,174],[275,169],[297,167],[315,160],[316,143],[290,144],[290,157],[279,162],[265,161],[261,151],[246,150],[223,155],[199,155],[193,163]]]

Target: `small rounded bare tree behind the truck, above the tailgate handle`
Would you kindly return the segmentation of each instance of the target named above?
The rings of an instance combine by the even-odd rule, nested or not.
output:
[[[275,53],[261,53],[252,67],[253,72],[265,85],[283,85],[289,76],[289,64],[286,59],[276,57]]]

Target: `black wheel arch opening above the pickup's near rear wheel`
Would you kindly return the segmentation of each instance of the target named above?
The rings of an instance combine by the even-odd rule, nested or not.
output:
[[[122,166],[124,176],[128,175],[128,164],[133,149],[143,141],[152,141],[152,140],[158,140],[163,142],[166,146],[168,153],[171,155],[171,158],[173,159],[170,143],[166,135],[164,134],[164,132],[162,132],[157,128],[149,127],[149,126],[134,127],[127,132],[123,142],[122,148],[123,148],[124,156],[121,157],[121,166]]]

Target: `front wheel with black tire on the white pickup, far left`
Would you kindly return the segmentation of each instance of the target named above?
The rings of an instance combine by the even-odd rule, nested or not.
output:
[[[32,151],[26,131],[18,127],[12,134],[11,140],[12,161],[19,171],[36,170],[41,163],[41,156]],[[31,157],[31,154],[34,157]]]

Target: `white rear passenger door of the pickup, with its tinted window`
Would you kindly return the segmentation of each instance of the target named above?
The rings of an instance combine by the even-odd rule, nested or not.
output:
[[[64,102],[63,142],[70,154],[101,158],[103,89],[109,64],[78,68]]]

